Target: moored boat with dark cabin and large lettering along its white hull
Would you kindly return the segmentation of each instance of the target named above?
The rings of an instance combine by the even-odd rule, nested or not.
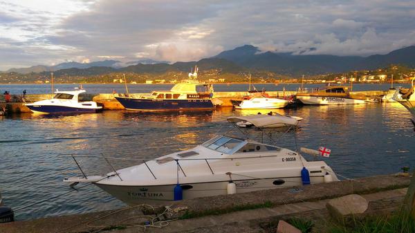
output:
[[[301,91],[296,95],[303,104],[339,105],[339,104],[366,104],[365,95],[349,93],[347,86],[327,86],[320,90]]]

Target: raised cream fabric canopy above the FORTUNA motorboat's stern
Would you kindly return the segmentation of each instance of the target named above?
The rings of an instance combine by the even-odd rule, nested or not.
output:
[[[274,128],[274,127],[291,127],[297,126],[299,121],[303,118],[280,115],[273,113],[273,115],[259,114],[259,115],[246,115],[246,116],[234,116],[228,118],[228,122],[235,122],[237,126],[243,128],[257,127],[257,128]]]

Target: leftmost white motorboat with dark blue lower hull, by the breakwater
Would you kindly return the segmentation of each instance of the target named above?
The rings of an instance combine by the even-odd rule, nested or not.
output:
[[[50,100],[41,100],[25,104],[33,113],[96,113],[102,110],[96,102],[87,99],[85,90],[56,91]]]

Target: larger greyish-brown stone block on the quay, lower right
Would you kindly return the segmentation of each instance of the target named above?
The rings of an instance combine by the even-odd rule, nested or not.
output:
[[[340,198],[331,199],[326,204],[331,216],[340,222],[348,218],[359,218],[369,207],[368,201],[360,195],[351,194]]]

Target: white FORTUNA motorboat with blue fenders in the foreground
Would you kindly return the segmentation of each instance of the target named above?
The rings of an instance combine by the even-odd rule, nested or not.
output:
[[[290,149],[226,135],[154,160],[136,160],[142,164],[64,182],[93,183],[133,205],[338,180],[324,161],[307,161]]]

